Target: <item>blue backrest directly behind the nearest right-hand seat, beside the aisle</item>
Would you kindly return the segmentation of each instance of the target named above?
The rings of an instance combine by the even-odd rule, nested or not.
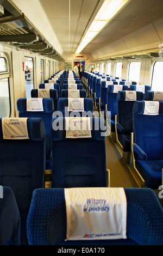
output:
[[[143,100],[143,93],[136,92],[136,99],[126,100],[126,92],[119,91],[117,94],[117,122],[123,127],[123,134],[130,134],[133,131],[133,105],[135,100]]]

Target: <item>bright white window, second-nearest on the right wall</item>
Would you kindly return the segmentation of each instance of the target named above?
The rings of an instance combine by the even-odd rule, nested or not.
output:
[[[135,81],[136,83],[139,83],[140,66],[141,66],[141,62],[130,62],[129,72],[128,72],[128,81]]]

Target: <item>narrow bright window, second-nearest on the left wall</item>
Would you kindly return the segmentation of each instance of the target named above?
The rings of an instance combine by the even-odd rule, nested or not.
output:
[[[24,64],[25,64],[26,97],[30,97],[30,92],[32,89],[34,89],[33,58],[24,57]]]

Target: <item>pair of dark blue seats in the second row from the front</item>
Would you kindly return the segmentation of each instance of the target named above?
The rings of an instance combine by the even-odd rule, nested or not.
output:
[[[89,138],[75,129],[69,138],[66,118],[52,119],[51,141],[48,142],[52,143],[53,188],[108,186],[105,133],[101,134],[105,132],[104,119],[89,120]],[[76,122],[80,124],[80,118]],[[76,127],[76,122],[71,124]],[[45,188],[45,181],[49,181],[47,176],[45,180],[45,122],[42,118],[21,117],[1,118],[0,124],[0,184],[14,192],[21,217],[21,244],[27,244],[26,222],[32,193],[36,188]]]

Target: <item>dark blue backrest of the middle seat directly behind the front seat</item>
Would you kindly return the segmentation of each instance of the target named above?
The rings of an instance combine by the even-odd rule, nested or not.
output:
[[[52,119],[52,187],[107,186],[104,119],[90,123],[91,137],[67,138],[65,118]]]

